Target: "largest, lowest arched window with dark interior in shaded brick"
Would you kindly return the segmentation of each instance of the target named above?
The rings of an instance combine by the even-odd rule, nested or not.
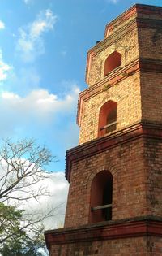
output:
[[[92,180],[90,223],[112,219],[112,197],[113,176],[109,171],[100,171]]]

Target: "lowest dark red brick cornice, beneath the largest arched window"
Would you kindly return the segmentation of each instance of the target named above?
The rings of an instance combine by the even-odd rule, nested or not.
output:
[[[146,216],[103,223],[93,223],[79,228],[60,228],[45,232],[48,249],[51,245],[112,240],[137,236],[162,236],[162,219]]]

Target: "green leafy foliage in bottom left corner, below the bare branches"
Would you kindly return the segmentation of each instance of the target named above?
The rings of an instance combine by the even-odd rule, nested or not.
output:
[[[23,210],[0,203],[0,253],[2,256],[42,256],[45,254],[43,228],[29,235],[21,227]]]

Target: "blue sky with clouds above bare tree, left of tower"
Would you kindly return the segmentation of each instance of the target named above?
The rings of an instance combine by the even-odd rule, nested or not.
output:
[[[138,3],[162,6],[161,0]],[[56,155],[78,144],[87,50],[131,0],[0,0],[1,137],[34,137]]]

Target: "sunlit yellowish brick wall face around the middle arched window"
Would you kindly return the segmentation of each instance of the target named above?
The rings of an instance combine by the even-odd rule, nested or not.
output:
[[[79,144],[98,137],[100,107],[109,100],[117,102],[117,130],[140,121],[142,113],[139,81],[138,72],[107,90],[101,89],[84,102]],[[103,88],[103,85],[100,87]]]

